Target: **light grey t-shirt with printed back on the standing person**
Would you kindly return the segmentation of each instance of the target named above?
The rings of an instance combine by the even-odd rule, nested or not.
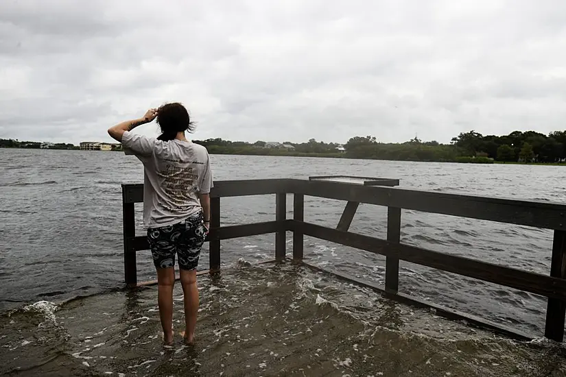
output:
[[[159,141],[124,132],[126,154],[143,162],[143,222],[147,228],[173,225],[201,210],[198,194],[210,193],[209,152],[190,141]]]

